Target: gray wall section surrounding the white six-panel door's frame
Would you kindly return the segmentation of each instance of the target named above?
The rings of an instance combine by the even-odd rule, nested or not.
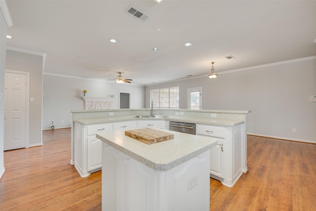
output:
[[[42,145],[42,71],[43,56],[6,50],[5,69],[30,73],[29,146]]]

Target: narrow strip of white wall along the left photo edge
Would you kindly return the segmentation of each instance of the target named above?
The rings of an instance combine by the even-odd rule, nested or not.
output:
[[[0,9],[0,179],[4,173],[3,159],[3,119],[4,119],[4,73],[5,73],[5,49],[6,49],[7,25],[5,23],[2,6]]]

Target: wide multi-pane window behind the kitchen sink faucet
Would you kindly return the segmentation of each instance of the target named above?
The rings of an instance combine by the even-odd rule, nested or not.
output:
[[[150,98],[154,108],[179,108],[179,86],[153,89]]]

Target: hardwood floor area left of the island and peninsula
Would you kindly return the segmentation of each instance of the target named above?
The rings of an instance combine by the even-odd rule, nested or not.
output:
[[[4,152],[1,211],[101,210],[101,171],[70,165],[71,130],[43,131],[43,146]]]

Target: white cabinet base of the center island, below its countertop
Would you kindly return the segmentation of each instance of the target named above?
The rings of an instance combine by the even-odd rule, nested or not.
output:
[[[209,151],[156,171],[102,143],[102,211],[209,211]]]

